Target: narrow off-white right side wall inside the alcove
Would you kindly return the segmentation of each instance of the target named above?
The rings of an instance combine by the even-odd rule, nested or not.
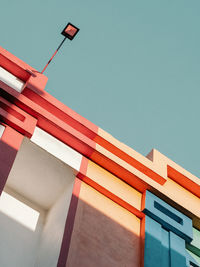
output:
[[[49,211],[42,232],[37,267],[56,267],[71,200],[74,179]]]

